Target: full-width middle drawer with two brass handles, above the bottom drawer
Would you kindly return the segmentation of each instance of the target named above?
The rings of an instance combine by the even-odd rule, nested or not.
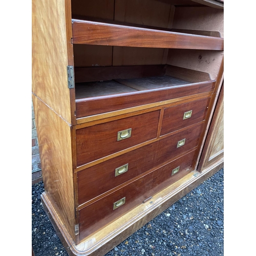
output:
[[[81,205],[147,170],[192,150],[198,145],[202,129],[203,123],[197,123],[167,138],[81,170],[77,173],[78,204]],[[178,141],[182,139],[185,139],[184,145],[177,147]],[[118,168],[121,174],[117,173],[116,176]]]

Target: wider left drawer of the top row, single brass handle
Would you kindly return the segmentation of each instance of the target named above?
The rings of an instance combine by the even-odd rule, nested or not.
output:
[[[77,166],[156,138],[160,110],[76,130]]]

